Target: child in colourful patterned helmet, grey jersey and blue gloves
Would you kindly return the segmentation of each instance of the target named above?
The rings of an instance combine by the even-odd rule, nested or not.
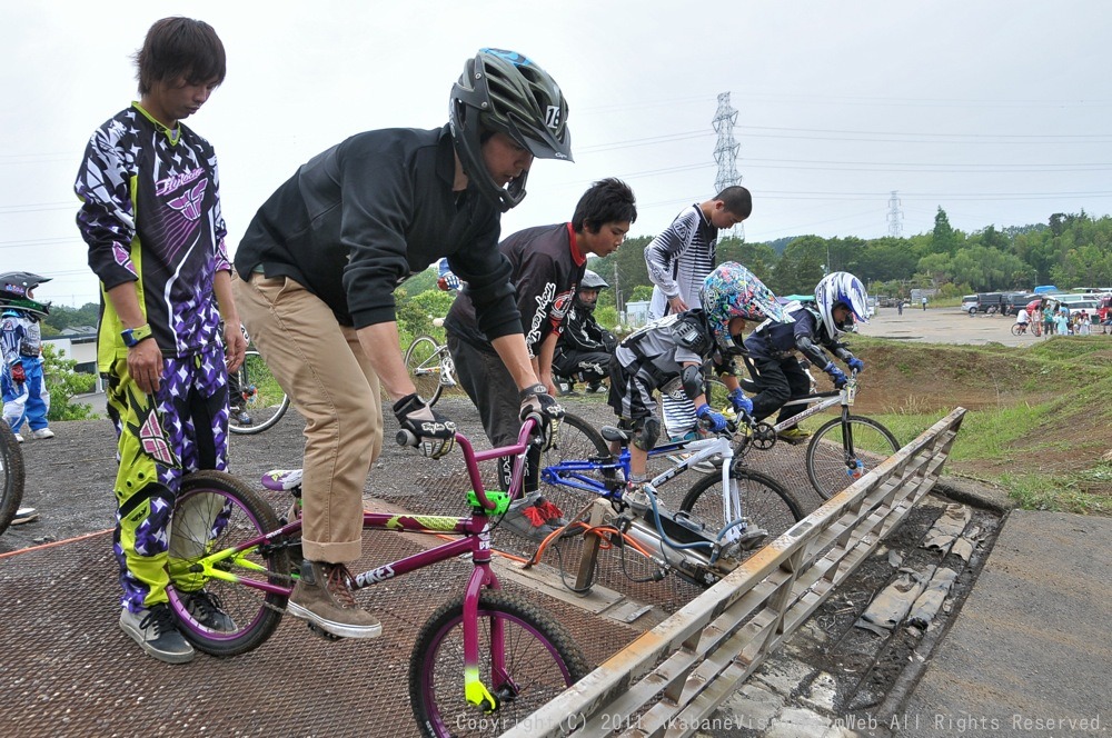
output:
[[[699,291],[702,308],[654,320],[631,333],[610,362],[609,405],[629,430],[631,485],[645,481],[648,451],[659,437],[655,390],[685,398],[709,430],[723,430],[726,419],[707,405],[703,366],[707,360],[723,376],[738,412],[752,403],[735,376],[734,356],[747,320],[784,320],[776,296],[748,269],[727,261],[707,275]]]

